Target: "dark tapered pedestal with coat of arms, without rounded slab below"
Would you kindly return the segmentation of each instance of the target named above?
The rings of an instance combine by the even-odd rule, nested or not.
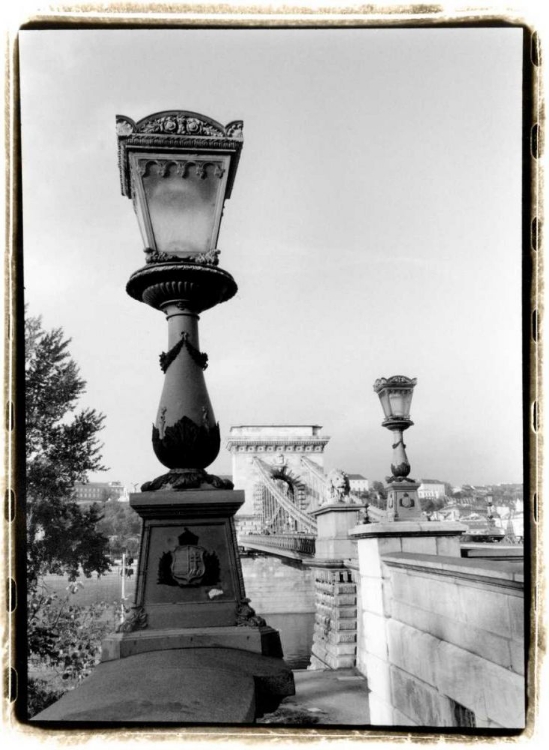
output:
[[[237,648],[281,657],[278,631],[246,599],[233,516],[234,490],[142,492],[130,496],[143,519],[135,601],[102,661],[148,651]]]

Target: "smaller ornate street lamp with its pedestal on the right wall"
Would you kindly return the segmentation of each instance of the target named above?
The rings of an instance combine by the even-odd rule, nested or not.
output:
[[[386,478],[387,515],[392,520],[412,520],[421,518],[417,488],[419,482],[409,479],[410,463],[404,444],[404,430],[414,423],[410,419],[410,406],[416,378],[393,375],[379,378],[374,383],[385,419],[381,423],[393,433],[392,475]]]

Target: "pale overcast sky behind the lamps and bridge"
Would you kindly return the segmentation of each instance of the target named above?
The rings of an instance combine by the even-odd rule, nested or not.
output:
[[[407,375],[413,477],[522,481],[521,66],[513,28],[23,32],[25,294],[107,416],[94,478],[165,471],[167,325],[125,292],[115,115],[187,109],[244,120],[219,238],[239,292],[200,323],[223,446],[320,424],[327,469],[383,479],[372,386]]]

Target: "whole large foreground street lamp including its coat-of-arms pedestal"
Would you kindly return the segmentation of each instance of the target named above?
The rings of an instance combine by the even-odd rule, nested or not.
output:
[[[190,642],[281,656],[278,632],[245,596],[234,527],[244,493],[205,471],[220,435],[198,319],[237,290],[218,267],[217,238],[242,122],[223,126],[195,112],[167,111],[138,122],[118,116],[116,128],[122,193],[133,201],[145,252],[127,292],[168,321],[152,442],[169,471],[130,498],[144,521],[135,604],[104,643],[103,659]]]

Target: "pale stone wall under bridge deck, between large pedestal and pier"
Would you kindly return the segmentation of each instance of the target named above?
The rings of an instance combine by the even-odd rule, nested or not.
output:
[[[258,614],[314,612],[314,572],[279,557],[241,557],[246,596]]]

